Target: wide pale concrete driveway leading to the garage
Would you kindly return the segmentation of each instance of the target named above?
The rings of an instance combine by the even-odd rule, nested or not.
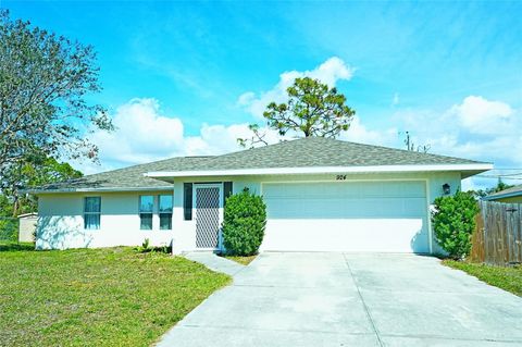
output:
[[[410,255],[262,253],[159,346],[522,346],[522,299]]]

